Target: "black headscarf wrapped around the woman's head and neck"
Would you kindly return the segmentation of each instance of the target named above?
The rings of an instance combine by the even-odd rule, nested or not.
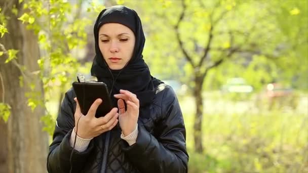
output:
[[[109,69],[98,47],[98,31],[105,23],[120,23],[130,28],[136,37],[132,58],[121,70]],[[140,108],[151,103],[155,90],[152,83],[152,76],[143,60],[142,51],[145,37],[141,21],[137,13],[125,6],[113,6],[104,9],[98,15],[94,25],[95,52],[91,74],[96,76],[98,81],[107,84],[111,91],[112,104],[118,107],[117,100],[113,94],[118,94],[120,89],[128,90],[137,95]]]

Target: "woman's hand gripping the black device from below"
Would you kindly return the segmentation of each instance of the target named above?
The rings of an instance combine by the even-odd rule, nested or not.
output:
[[[87,115],[83,115],[80,110],[79,102],[77,98],[74,98],[76,102],[76,110],[74,114],[75,118],[75,132],[78,119],[78,132],[77,135],[80,138],[91,139],[99,136],[100,134],[110,131],[118,123],[118,108],[113,108],[109,113],[103,117],[96,118],[95,113],[98,106],[102,103],[101,99],[96,99],[91,105]]]

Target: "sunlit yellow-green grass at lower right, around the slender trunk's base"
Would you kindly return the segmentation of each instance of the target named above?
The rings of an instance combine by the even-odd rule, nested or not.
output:
[[[205,150],[196,153],[193,110],[183,114],[189,172],[308,171],[308,115],[204,114]]]

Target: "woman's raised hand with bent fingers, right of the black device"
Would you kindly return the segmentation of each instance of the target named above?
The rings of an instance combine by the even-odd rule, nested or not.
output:
[[[137,96],[127,90],[120,90],[120,94],[115,94],[119,107],[119,123],[124,136],[128,136],[136,129],[139,117],[139,100]],[[124,101],[127,105],[125,111]]]

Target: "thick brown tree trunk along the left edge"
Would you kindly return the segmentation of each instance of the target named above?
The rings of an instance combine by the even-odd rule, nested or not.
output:
[[[16,6],[18,15],[12,14],[12,7]],[[33,111],[27,106],[26,93],[31,92],[28,82],[34,84],[37,97],[44,98],[43,83],[40,76],[33,71],[39,70],[37,60],[40,57],[37,36],[25,28],[17,18],[22,15],[22,5],[18,0],[0,0],[0,7],[6,9],[5,16],[9,33],[0,39],[6,50],[16,49],[16,63],[25,67],[23,86],[19,84],[22,76],[20,68],[12,61],[5,64],[7,56],[0,57],[0,73],[3,76],[4,88],[0,91],[0,100],[11,106],[11,115],[7,123],[0,120],[0,169],[8,173],[41,173],[46,171],[46,157],[48,154],[48,135],[43,132],[41,117],[45,109],[37,106]],[[2,87],[0,85],[0,87]],[[4,130],[4,131],[3,131]],[[5,133],[4,133],[5,132]],[[3,159],[5,161],[3,162]]]

